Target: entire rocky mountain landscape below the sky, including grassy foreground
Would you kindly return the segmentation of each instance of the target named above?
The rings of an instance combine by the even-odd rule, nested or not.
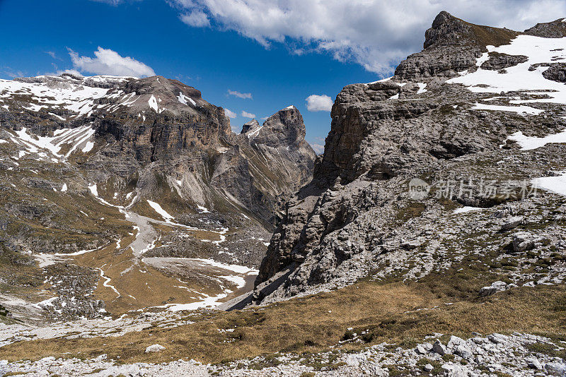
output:
[[[566,376],[566,18],[424,37],[318,157],[293,106],[0,81],[7,370]]]

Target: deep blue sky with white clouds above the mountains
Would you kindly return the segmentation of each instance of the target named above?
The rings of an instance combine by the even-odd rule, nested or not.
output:
[[[566,1],[0,0],[0,78],[110,73],[88,71],[69,55],[84,62],[102,47],[201,90],[236,113],[233,128],[249,120],[242,112],[260,120],[294,104],[309,143],[323,145],[335,95],[389,76],[422,48],[424,30],[443,9],[523,30],[566,16]],[[311,97],[318,100],[311,110],[320,111],[309,111],[311,95],[330,101]]]

